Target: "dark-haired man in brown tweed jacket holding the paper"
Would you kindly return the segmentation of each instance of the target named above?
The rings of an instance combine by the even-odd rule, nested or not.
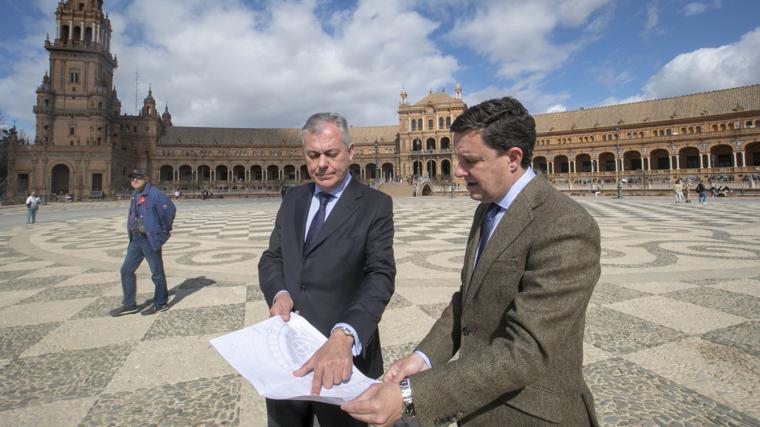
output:
[[[476,105],[451,130],[455,174],[481,202],[462,286],[416,351],[342,407],[377,425],[597,425],[582,362],[599,227],[530,168],[535,122],[517,100]]]

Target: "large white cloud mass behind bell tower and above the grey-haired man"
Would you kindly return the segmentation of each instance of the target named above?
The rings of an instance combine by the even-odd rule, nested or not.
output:
[[[30,123],[44,33],[55,32],[51,1],[38,0],[48,22],[32,36],[34,55],[0,80],[0,111]],[[297,127],[326,110],[355,125],[394,124],[402,84],[414,100],[455,82],[456,59],[430,39],[438,24],[401,0],[361,0],[351,11],[318,0],[248,4],[108,2],[122,111],[135,112],[136,70],[138,107],[150,83],[178,126]]]

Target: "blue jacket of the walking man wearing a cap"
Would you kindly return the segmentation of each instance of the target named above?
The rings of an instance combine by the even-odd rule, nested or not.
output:
[[[141,192],[132,193],[132,200],[129,203],[129,218],[127,220],[127,232],[134,228],[134,218],[137,212],[137,200],[140,196],[145,196],[145,206],[139,207],[140,216],[143,218],[145,226],[145,235],[148,237],[150,246],[153,250],[161,249],[161,246],[169,240],[171,236],[172,224],[174,224],[174,215],[177,208],[169,197],[161,190],[152,185],[145,184]],[[129,234],[132,240],[131,233]]]

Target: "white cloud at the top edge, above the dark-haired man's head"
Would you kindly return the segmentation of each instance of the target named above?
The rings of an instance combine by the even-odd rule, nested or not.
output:
[[[608,0],[549,1],[493,0],[471,16],[458,19],[448,39],[473,49],[499,67],[508,79],[545,74],[557,69],[578,48],[584,36],[556,42],[560,29],[583,31],[584,24]],[[591,31],[600,31],[605,20],[592,20]]]

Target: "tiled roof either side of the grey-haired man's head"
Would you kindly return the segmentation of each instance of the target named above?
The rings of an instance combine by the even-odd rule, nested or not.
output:
[[[240,129],[173,126],[159,139],[159,145],[251,145],[251,146],[300,146],[300,129]],[[390,142],[396,139],[398,126],[351,127],[348,130],[352,142]]]

